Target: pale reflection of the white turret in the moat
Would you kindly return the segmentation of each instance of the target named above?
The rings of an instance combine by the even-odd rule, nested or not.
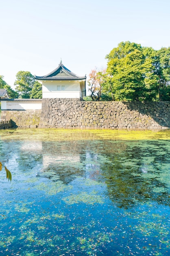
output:
[[[43,168],[38,175],[51,180],[70,183],[76,177],[85,177],[85,148],[77,141],[42,142]]]

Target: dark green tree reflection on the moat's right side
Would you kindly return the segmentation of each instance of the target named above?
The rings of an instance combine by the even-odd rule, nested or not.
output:
[[[148,155],[155,155],[153,155],[149,145],[147,150]],[[169,196],[166,191],[155,193],[153,190],[154,187],[162,188],[166,186],[164,182],[159,180],[161,170],[157,173],[157,156],[155,156],[153,162],[146,164],[143,155],[144,151],[140,146],[135,148],[127,147],[121,154],[107,155],[112,164],[103,163],[101,166],[109,197],[119,207],[129,207],[137,201],[146,202],[148,199],[163,204],[168,204],[169,202]],[[167,158],[161,158],[161,162],[167,164]],[[150,171],[147,168],[148,166],[151,166],[149,169],[153,171]],[[148,172],[148,176],[145,177],[144,175]]]

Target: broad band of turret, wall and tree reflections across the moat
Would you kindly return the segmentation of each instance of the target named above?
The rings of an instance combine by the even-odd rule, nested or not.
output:
[[[146,200],[169,203],[167,141],[88,139],[18,143],[14,155],[10,152],[10,158],[15,158],[21,171],[29,171],[34,164],[37,176],[54,182],[69,184],[77,177],[103,182],[107,185],[105,193],[119,207],[128,208]],[[5,152],[9,150],[8,145],[6,143]],[[3,156],[3,149],[1,154]],[[10,161],[8,157],[7,160]]]

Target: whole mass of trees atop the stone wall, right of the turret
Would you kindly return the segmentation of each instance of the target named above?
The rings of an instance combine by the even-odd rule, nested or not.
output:
[[[106,72],[95,73],[96,81],[100,81],[100,87],[96,86],[100,88],[100,100],[170,100],[170,47],[154,50],[129,41],[121,42],[106,58]],[[89,85],[91,97],[96,100],[92,90],[94,71],[89,74]]]

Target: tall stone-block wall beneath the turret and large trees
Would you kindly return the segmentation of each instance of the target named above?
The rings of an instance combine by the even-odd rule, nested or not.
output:
[[[170,128],[170,102],[43,99],[39,128]]]

